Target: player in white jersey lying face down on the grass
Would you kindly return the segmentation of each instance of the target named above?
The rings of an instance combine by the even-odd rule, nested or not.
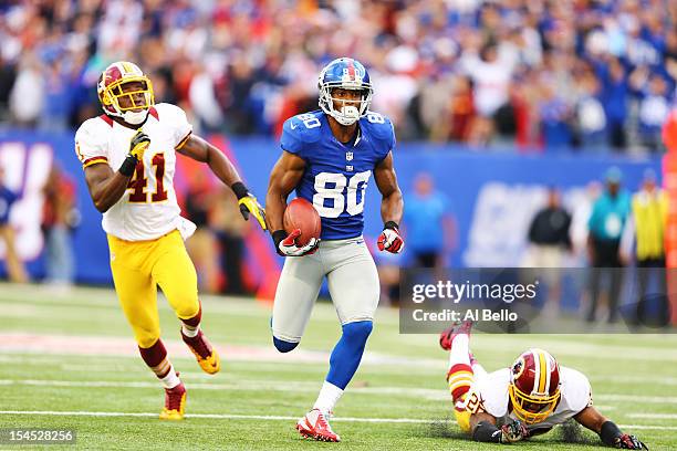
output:
[[[444,331],[439,344],[449,350],[447,381],[456,420],[472,439],[512,443],[573,418],[611,447],[648,449],[593,407],[583,374],[560,367],[545,350],[528,349],[512,367],[487,374],[470,353],[471,327],[465,322]]]

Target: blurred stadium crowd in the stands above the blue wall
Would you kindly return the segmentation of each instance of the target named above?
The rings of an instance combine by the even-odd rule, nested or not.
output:
[[[322,64],[369,69],[399,139],[660,147],[675,103],[668,0],[71,0],[0,6],[0,119],[76,127],[114,60],[207,132],[278,134]]]

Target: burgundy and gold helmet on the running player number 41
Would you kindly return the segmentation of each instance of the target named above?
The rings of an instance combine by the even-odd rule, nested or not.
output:
[[[106,67],[98,80],[97,92],[107,115],[132,125],[146,120],[148,111],[155,105],[153,83],[134,63],[123,61]]]

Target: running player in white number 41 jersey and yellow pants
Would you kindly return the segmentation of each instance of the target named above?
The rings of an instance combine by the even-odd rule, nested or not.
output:
[[[220,359],[200,329],[197,274],[184,245],[195,224],[180,217],[176,201],[176,154],[206,162],[235,191],[244,219],[253,216],[263,229],[264,212],[228,158],[191,133],[181,108],[155,105],[153,84],[136,64],[111,64],[97,91],[104,114],[80,126],[75,149],[92,200],[103,213],[119,303],[142,358],[165,387],[160,419],[180,420],[186,388],[160,339],[158,285],[202,370],[218,373]]]

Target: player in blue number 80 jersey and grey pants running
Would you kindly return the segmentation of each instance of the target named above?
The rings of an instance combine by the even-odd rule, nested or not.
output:
[[[265,198],[275,249],[288,256],[275,293],[272,334],[281,353],[299,345],[326,276],[343,334],[317,400],[296,429],[306,438],[340,441],[329,418],[360,366],[379,296],[376,265],[362,238],[372,175],[383,195],[381,251],[399,253],[404,248],[398,231],[404,203],[393,169],[393,124],[369,111],[373,88],[366,69],[350,57],[334,60],[320,73],[317,85],[321,109],[284,123],[282,156]],[[299,230],[288,235],[282,227],[293,190],[312,202],[322,219],[320,240],[305,245],[296,245]]]

